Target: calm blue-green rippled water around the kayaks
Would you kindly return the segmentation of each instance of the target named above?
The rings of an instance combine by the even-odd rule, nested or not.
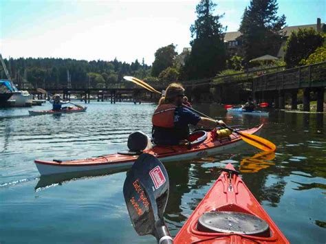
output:
[[[137,236],[124,204],[125,172],[96,177],[40,177],[35,158],[82,159],[126,147],[129,133],[151,132],[154,104],[94,102],[86,113],[28,116],[0,109],[0,243],[155,243]],[[50,105],[34,107],[47,109]],[[216,105],[197,107],[228,124],[261,122],[261,135],[278,146],[276,157],[258,151],[166,164],[170,198],[165,219],[175,235],[232,162],[270,217],[292,243],[326,241],[326,115],[272,111],[270,118],[227,115]]]

